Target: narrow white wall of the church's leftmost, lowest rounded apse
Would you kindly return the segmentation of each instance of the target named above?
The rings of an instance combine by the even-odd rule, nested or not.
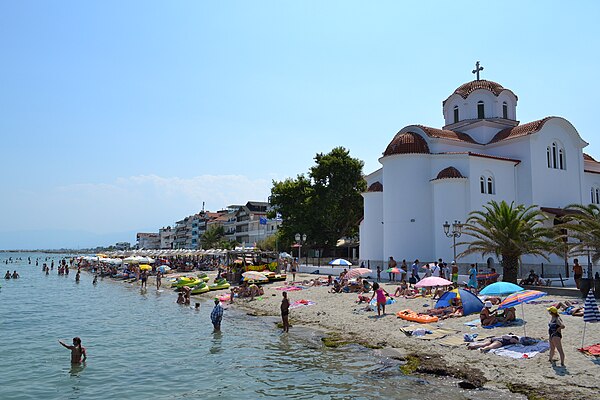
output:
[[[383,192],[363,193],[363,198],[364,218],[359,232],[360,258],[381,261],[385,259],[383,257]]]

